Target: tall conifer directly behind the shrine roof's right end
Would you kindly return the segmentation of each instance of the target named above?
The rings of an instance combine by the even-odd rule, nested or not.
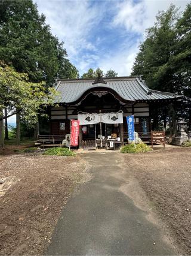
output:
[[[171,5],[167,11],[160,11],[155,25],[146,30],[146,40],[140,45],[135,58],[132,75],[143,75],[150,88],[172,92],[172,69],[167,64],[174,55],[175,25],[178,9]]]

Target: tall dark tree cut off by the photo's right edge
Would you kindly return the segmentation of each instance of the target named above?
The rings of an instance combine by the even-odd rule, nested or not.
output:
[[[168,62],[174,71],[175,91],[184,94],[180,115],[189,121],[191,129],[191,3],[187,4],[183,15],[176,24],[174,56]]]

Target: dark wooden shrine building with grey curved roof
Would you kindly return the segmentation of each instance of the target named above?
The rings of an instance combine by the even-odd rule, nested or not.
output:
[[[127,141],[126,116],[134,115],[135,131],[143,140],[150,137],[150,112],[155,104],[170,104],[181,95],[149,89],[141,77],[61,79],[55,89],[56,106],[50,109],[49,134],[70,133],[70,120],[80,121],[79,147],[92,141],[96,147],[108,140]],[[91,143],[90,143],[91,144]]]

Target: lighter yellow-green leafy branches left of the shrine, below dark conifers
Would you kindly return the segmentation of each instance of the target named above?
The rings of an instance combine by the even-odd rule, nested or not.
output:
[[[27,74],[0,62],[0,110],[7,107],[10,112],[20,112],[24,121],[33,125],[38,111],[53,104],[56,91],[49,88],[48,92],[44,83],[31,83]]]

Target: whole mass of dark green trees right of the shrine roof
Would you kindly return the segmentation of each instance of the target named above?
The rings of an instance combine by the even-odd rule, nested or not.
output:
[[[143,75],[150,88],[184,94],[179,116],[191,125],[191,3],[182,14],[175,5],[156,16],[140,44],[132,75]],[[163,114],[162,114],[163,115]],[[190,127],[189,127],[190,128]]]

